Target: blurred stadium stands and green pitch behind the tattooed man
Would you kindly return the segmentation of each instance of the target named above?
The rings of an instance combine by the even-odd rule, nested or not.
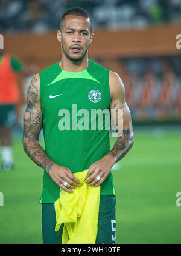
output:
[[[35,73],[60,59],[56,30],[72,7],[92,15],[89,58],[121,76],[133,118],[135,145],[113,168],[116,243],[181,243],[181,1],[1,0],[4,48],[24,64],[17,75],[22,95]],[[0,243],[42,243],[43,170],[22,149],[24,109],[22,97],[13,129],[15,169],[0,172]]]

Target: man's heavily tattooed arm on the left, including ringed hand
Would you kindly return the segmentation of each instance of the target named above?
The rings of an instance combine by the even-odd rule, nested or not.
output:
[[[34,163],[46,170],[54,183],[66,192],[72,192],[71,189],[78,186],[79,180],[68,167],[59,166],[49,159],[45,150],[39,144],[39,134],[43,120],[39,91],[40,77],[36,75],[31,80],[27,92],[27,108],[24,115],[24,150]],[[66,187],[63,185],[65,181],[68,183]]]

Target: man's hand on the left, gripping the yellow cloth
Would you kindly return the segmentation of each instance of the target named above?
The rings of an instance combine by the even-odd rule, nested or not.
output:
[[[58,164],[53,164],[48,173],[59,187],[69,193],[72,193],[71,189],[75,189],[80,183],[69,168],[59,166]],[[66,186],[63,185],[65,181],[68,183]]]

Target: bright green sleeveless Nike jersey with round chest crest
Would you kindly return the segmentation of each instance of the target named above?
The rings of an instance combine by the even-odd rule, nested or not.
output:
[[[80,72],[62,70],[56,62],[39,75],[46,155],[72,173],[88,169],[110,152],[106,115],[103,129],[98,127],[98,115],[92,118],[92,110],[109,112],[109,69],[89,59],[87,69]],[[40,203],[54,203],[59,191],[44,170]],[[101,195],[115,195],[112,172],[101,184]]]

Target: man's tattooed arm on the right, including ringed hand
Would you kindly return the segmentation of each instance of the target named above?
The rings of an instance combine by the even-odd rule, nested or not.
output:
[[[129,107],[125,102],[124,84],[122,83],[121,78],[112,71],[109,73],[109,86],[112,98],[109,107],[110,110],[116,110],[116,115],[115,117],[112,116],[112,120],[119,131],[118,111],[119,109],[122,109],[123,116],[121,121],[123,121],[123,129],[121,132],[118,132],[118,139],[116,140],[113,149],[89,167],[86,183],[94,187],[100,186],[100,184],[106,180],[112,166],[121,160],[133,146],[132,120]],[[97,180],[97,177],[100,177],[100,180]]]

